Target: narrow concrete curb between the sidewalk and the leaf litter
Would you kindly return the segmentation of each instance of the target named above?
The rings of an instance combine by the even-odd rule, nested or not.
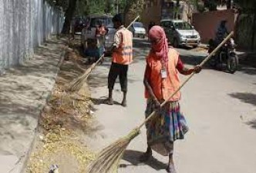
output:
[[[62,48],[62,53],[60,55],[59,63],[56,67],[57,68],[56,75],[54,76],[54,78],[52,78],[52,80],[54,80],[55,82],[53,83],[51,90],[46,91],[45,95],[42,96],[45,98],[45,101],[42,104],[42,106],[39,107],[39,117],[40,117],[40,115],[42,115],[43,108],[45,107],[46,103],[49,101],[49,98],[51,97],[51,94],[52,94],[52,90],[53,90],[54,86],[56,85],[56,78],[59,74],[60,66],[62,65],[62,63],[64,61],[67,48],[68,48],[68,46],[66,46],[66,45],[64,45],[64,48]],[[29,150],[25,153],[25,157],[24,157],[24,161],[22,162],[22,168],[20,170],[20,173],[25,173],[25,171],[26,171],[27,165],[29,163],[30,155],[32,154],[33,149],[35,148],[36,137],[38,135],[39,135],[39,120],[38,120],[37,127],[35,128],[35,134],[34,134],[32,142],[31,142],[31,145],[29,146]]]

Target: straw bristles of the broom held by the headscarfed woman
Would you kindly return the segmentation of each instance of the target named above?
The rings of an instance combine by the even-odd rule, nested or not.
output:
[[[117,172],[120,159],[133,138],[139,135],[140,129],[135,128],[124,138],[120,138],[113,144],[107,146],[87,168],[86,173],[113,173]]]

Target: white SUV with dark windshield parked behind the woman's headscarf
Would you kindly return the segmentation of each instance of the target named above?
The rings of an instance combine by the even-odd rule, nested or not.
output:
[[[164,19],[160,25],[167,34],[169,42],[177,48],[181,45],[193,46],[200,45],[200,35],[194,26],[182,20]]]

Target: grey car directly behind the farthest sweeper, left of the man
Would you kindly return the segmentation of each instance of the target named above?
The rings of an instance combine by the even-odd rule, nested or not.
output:
[[[105,49],[106,52],[112,47],[114,42],[114,35],[116,33],[116,29],[113,28],[112,22],[113,16],[111,15],[89,15],[86,18],[86,28],[82,31],[82,45],[83,48],[86,49],[87,45],[90,41],[95,38],[96,34],[96,26],[99,25],[99,22],[102,22],[103,25],[108,28],[108,33],[105,37]]]

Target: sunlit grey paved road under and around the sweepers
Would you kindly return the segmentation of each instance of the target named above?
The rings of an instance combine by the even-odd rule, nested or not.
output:
[[[109,62],[96,68],[90,86],[96,102],[96,136],[90,145],[103,148],[126,135],[144,119],[143,71],[147,42],[135,41],[135,62],[129,70],[128,107],[116,84],[116,105],[103,104],[107,96],[106,76]],[[179,50],[188,65],[200,62],[204,55]],[[192,61],[191,61],[192,59]],[[184,76],[181,77],[184,80]],[[254,173],[256,172],[256,70],[243,67],[234,75],[205,68],[182,90],[181,108],[187,116],[190,132],[175,145],[178,173]],[[121,161],[120,172],[166,172],[167,158],[156,153],[146,164],[138,161],[147,148],[146,130],[135,138]]]

